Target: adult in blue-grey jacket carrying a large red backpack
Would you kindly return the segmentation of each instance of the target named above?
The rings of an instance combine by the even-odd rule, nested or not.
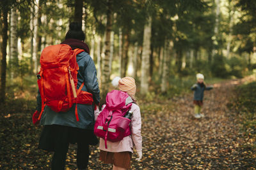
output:
[[[93,134],[93,126],[94,108],[99,105],[100,90],[95,64],[89,55],[90,51],[84,43],[84,38],[81,24],[72,22],[65,41],[61,45],[46,47],[40,57],[40,92],[33,123],[39,124],[40,120],[40,125],[44,126],[38,148],[54,152],[51,169],[65,168],[69,143],[77,143],[77,168],[86,169],[90,155],[89,145],[98,143],[97,137]],[[68,58],[68,55],[76,57],[73,57],[73,60]],[[54,62],[54,59],[58,62]],[[67,66],[64,66],[65,64]],[[56,71],[57,69],[60,70]],[[61,73],[64,77],[60,75]],[[61,84],[61,80],[64,83],[67,80],[67,83]],[[61,88],[67,91],[53,95]],[[56,99],[61,95],[66,98]]]

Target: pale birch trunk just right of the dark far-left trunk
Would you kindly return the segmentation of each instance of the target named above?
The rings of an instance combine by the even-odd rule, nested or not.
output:
[[[11,71],[11,81],[13,75],[19,68],[18,59],[18,36],[17,36],[17,9],[12,8],[11,10],[11,21],[10,21],[10,71]]]

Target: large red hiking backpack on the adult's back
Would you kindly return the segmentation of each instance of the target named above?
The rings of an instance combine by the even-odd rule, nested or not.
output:
[[[68,111],[76,103],[92,104],[92,94],[81,91],[84,83],[77,90],[77,71],[79,66],[76,62],[76,55],[83,52],[82,49],[75,49],[69,45],[51,45],[44,48],[40,56],[41,69],[37,74],[37,83],[42,99],[42,111],[38,117],[40,120],[45,105],[53,111]]]

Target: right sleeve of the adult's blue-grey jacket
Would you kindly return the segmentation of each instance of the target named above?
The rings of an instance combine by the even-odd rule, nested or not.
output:
[[[100,103],[100,90],[97,78],[97,71],[92,58],[88,57],[87,63],[85,63],[84,68],[84,83],[86,84],[86,89],[88,92],[93,94],[93,101],[95,104]]]

